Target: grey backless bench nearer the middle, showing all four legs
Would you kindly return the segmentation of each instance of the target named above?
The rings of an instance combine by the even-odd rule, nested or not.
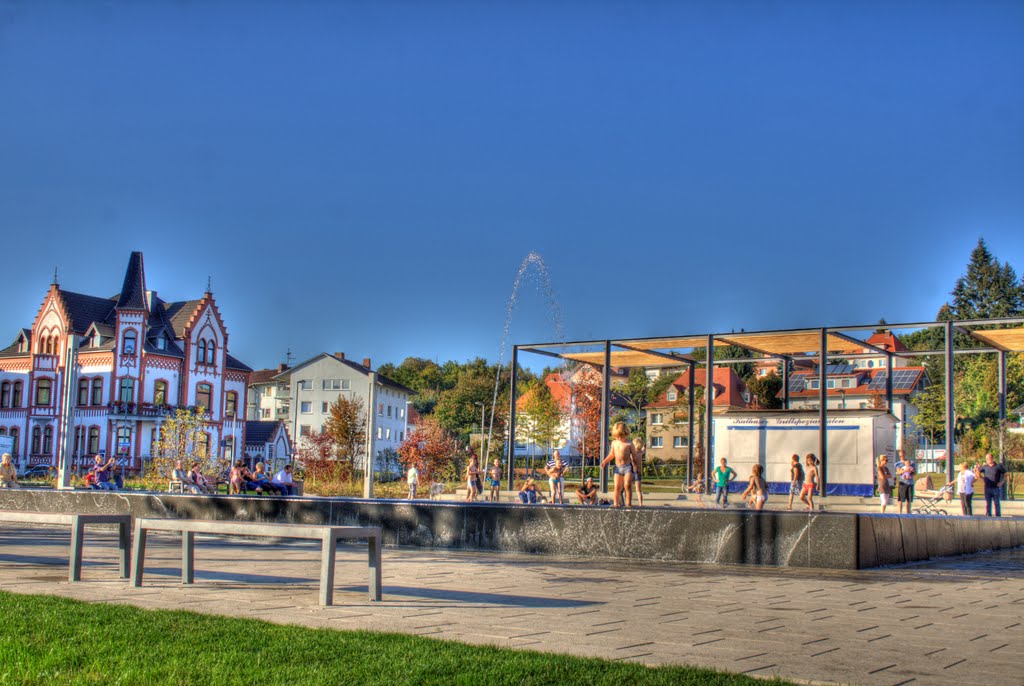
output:
[[[136,519],[132,586],[142,586],[145,571],[147,531],[181,532],[181,583],[196,581],[196,534],[307,539],[321,542],[321,605],[334,602],[334,566],[338,541],[367,539],[370,565],[370,600],[381,599],[381,527],[328,526],[316,524],[264,524],[261,522],[218,521],[212,519]]]

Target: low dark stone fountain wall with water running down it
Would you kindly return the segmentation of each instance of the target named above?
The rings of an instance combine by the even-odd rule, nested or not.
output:
[[[391,546],[834,569],[1024,545],[1024,520],[982,517],[84,490],[0,490],[0,510],[381,526]]]

